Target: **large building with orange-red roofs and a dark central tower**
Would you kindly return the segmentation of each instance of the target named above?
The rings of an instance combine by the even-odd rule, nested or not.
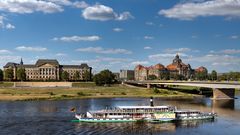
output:
[[[148,80],[150,75],[156,76],[157,79],[162,79],[166,74],[169,75],[170,78],[174,76],[182,76],[185,79],[192,79],[195,73],[207,72],[207,69],[203,66],[197,69],[192,69],[191,65],[183,63],[177,54],[172,63],[166,67],[160,63],[149,67],[137,65],[134,72],[135,80]]]

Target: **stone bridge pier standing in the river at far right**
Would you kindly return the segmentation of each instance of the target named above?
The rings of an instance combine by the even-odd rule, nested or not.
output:
[[[214,88],[213,99],[234,99],[235,89],[233,88]]]

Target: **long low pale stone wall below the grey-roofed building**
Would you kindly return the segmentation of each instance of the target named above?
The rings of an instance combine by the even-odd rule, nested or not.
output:
[[[72,82],[14,82],[14,87],[72,87]]]

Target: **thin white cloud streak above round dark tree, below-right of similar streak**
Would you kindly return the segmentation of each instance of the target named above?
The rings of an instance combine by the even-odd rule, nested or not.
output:
[[[101,54],[131,54],[132,52],[126,49],[104,49],[102,47],[87,47],[87,48],[78,48],[76,51],[79,52],[92,52],[92,53],[101,53]]]

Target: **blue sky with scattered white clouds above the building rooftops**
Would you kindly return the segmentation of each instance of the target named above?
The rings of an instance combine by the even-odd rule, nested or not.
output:
[[[172,63],[240,71],[240,0],[0,0],[0,67]]]

